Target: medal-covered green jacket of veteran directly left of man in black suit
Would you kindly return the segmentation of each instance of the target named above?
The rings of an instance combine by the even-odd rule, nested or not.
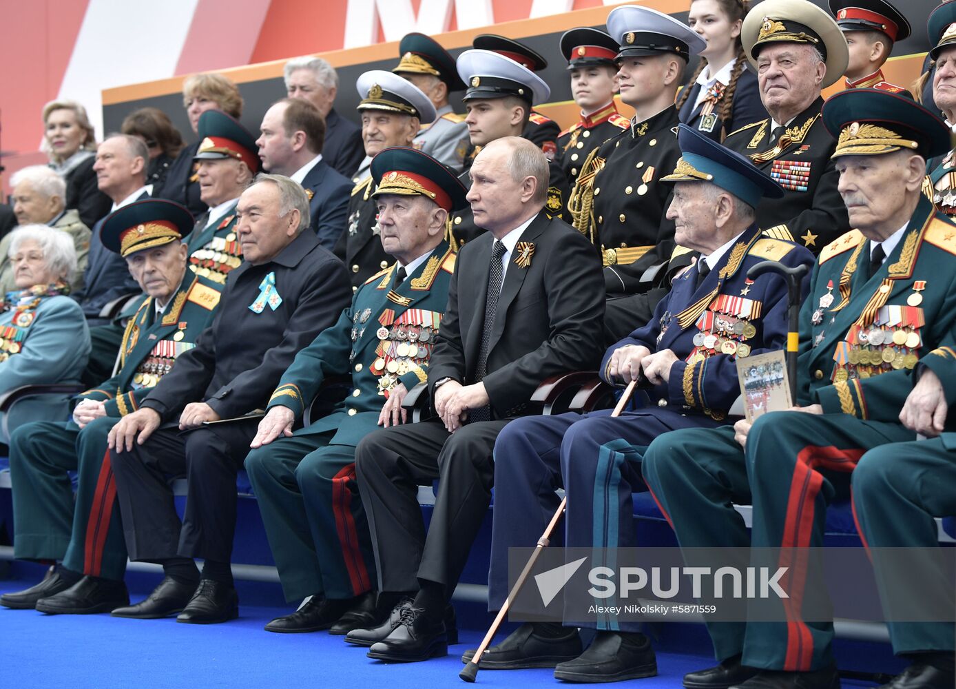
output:
[[[398,289],[391,289],[395,264],[369,278],[336,324],[295,355],[269,409],[288,407],[300,417],[324,380],[348,373],[348,396],[295,434],[335,431],[332,443],[358,445],[377,427],[389,390],[425,382],[454,268],[455,254],[442,242]]]

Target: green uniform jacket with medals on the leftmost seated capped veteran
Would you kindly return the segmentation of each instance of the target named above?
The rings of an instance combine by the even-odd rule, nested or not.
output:
[[[142,300],[123,332],[120,372],[78,397],[104,402],[107,416],[125,416],[140,409],[141,400],[212,322],[220,289],[214,281],[187,270],[163,316],[156,317],[152,297]]]

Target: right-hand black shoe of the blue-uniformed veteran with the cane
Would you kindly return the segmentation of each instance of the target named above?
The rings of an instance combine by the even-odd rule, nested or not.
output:
[[[654,649],[642,633],[598,632],[584,653],[554,668],[555,679],[573,682],[612,682],[656,675]]]

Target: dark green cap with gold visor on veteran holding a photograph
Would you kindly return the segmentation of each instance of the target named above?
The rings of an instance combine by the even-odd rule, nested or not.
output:
[[[836,139],[833,158],[906,149],[929,160],[950,148],[945,122],[916,101],[887,91],[841,91],[823,104],[822,117]]]

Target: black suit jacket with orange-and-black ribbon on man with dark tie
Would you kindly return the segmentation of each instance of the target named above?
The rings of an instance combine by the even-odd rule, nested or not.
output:
[[[431,355],[429,386],[445,377],[464,385],[475,382],[493,240],[484,233],[458,255]],[[534,250],[526,268],[514,262],[517,249],[512,253],[495,311],[484,378],[493,418],[520,414],[550,376],[594,369],[603,351],[604,279],[594,247],[545,212],[520,241],[532,243]]]

